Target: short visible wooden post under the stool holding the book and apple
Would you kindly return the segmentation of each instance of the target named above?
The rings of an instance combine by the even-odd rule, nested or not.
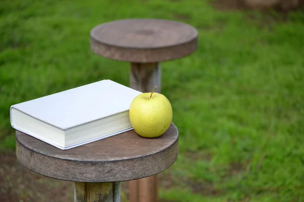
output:
[[[74,202],[120,202],[120,182],[75,182]]]

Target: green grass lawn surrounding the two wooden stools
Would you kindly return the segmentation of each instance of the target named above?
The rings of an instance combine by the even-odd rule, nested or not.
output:
[[[0,148],[13,149],[11,105],[102,79],[129,85],[129,64],[90,50],[90,29],[163,18],[199,31],[195,54],[162,63],[179,129],[164,171],[167,201],[303,201],[304,15],[222,12],[210,2],[3,1]],[[168,182],[169,185],[168,185]]]

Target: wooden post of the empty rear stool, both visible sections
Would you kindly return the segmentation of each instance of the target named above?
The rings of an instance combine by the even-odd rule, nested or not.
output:
[[[157,86],[155,91],[160,93],[160,63],[131,63],[130,86],[141,92],[151,92],[154,86]],[[157,202],[157,175],[130,181],[129,200],[130,202]]]

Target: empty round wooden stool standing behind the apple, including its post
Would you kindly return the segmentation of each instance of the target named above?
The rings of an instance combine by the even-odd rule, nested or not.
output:
[[[197,49],[197,30],[185,23],[160,19],[127,19],[104,23],[91,30],[93,53],[131,63],[130,87],[161,92],[160,62],[192,54]],[[129,183],[130,202],[156,202],[157,176]],[[140,189],[140,190],[139,190]],[[139,198],[139,192],[148,192]]]

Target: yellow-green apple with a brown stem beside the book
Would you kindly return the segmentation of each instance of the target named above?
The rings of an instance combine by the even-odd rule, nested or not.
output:
[[[137,95],[130,105],[129,118],[134,131],[147,138],[164,134],[172,122],[172,106],[161,93],[145,92]]]

